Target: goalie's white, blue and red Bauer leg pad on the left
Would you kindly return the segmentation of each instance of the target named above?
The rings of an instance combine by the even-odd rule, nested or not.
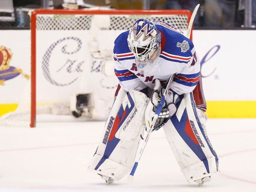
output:
[[[120,89],[98,148],[88,166],[90,171],[116,181],[130,171],[141,140],[140,135],[145,128],[148,103],[149,98],[142,92]]]

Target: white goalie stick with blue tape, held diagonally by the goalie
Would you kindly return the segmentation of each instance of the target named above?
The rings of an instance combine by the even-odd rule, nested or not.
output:
[[[195,7],[195,9],[194,9],[194,11],[193,11],[193,13],[191,15],[191,18],[190,18],[190,21],[189,21],[189,24],[188,24],[187,38],[190,38],[191,28],[192,28],[193,21],[194,21],[194,18],[196,16],[196,13],[197,13],[197,10],[198,10],[199,6],[200,6],[200,4],[197,4],[197,6]],[[152,123],[151,123],[151,125],[149,127],[148,134],[146,135],[145,139],[141,141],[143,143],[140,145],[141,147],[139,148],[139,153],[136,155],[136,158],[134,160],[134,164],[133,164],[133,168],[131,170],[131,173],[127,177],[128,181],[130,181],[130,182],[133,181],[134,173],[135,173],[136,168],[137,168],[137,166],[139,164],[140,158],[141,158],[142,153],[143,153],[143,151],[144,151],[144,149],[146,147],[146,144],[148,143],[149,136],[150,136],[150,134],[151,134],[151,132],[152,132],[154,126],[155,126],[155,123],[157,122],[157,119],[158,119],[158,116],[159,116],[159,114],[161,112],[161,109],[164,106],[164,101],[165,101],[165,98],[166,98],[167,90],[169,90],[170,85],[171,85],[171,83],[173,81],[173,78],[174,78],[174,74],[170,77],[170,80],[169,80],[169,82],[168,82],[168,84],[166,86],[166,89],[165,89],[164,94],[163,94],[163,96],[162,96],[162,98],[160,100],[160,103],[158,104],[157,109],[155,110],[155,115],[154,115]]]

